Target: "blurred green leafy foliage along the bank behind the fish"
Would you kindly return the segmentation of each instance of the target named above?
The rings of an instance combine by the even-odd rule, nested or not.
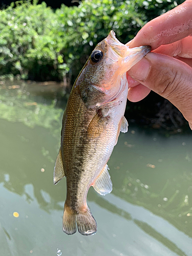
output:
[[[182,0],[84,0],[55,12],[45,3],[19,1],[0,11],[0,76],[73,82],[110,30],[126,43],[150,19]]]

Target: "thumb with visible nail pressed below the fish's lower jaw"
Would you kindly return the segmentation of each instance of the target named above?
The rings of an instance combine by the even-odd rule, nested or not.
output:
[[[128,74],[145,87],[172,102],[192,127],[192,68],[186,63],[148,53]]]

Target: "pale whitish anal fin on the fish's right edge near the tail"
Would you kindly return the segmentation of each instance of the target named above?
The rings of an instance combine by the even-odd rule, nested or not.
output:
[[[112,181],[108,170],[109,167],[106,164],[104,168],[101,170],[95,183],[93,184],[93,187],[97,191],[97,193],[103,196],[112,191]]]

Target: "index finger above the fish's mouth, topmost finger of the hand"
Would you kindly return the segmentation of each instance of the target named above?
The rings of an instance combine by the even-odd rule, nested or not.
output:
[[[150,45],[154,50],[160,45],[176,42],[192,33],[191,13],[192,0],[186,0],[173,10],[148,22],[126,45],[130,48]]]

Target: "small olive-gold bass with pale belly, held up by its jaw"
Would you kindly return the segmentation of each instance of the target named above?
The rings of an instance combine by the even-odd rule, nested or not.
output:
[[[54,184],[67,179],[62,229],[84,236],[95,234],[97,223],[87,205],[91,186],[100,194],[112,191],[108,160],[124,117],[128,83],[126,71],[151,51],[150,46],[130,49],[114,31],[93,50],[71,90],[62,118],[61,142],[54,167]]]

